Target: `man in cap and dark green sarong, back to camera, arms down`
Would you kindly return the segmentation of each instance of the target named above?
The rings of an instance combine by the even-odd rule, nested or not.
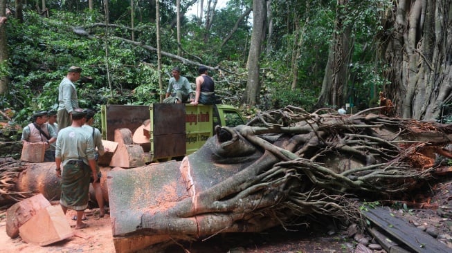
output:
[[[57,176],[62,178],[60,205],[64,214],[67,209],[77,212],[75,229],[88,227],[82,216],[88,207],[91,173],[98,180],[93,138],[82,129],[86,115],[82,109],[73,111],[71,126],[58,132],[55,150]]]

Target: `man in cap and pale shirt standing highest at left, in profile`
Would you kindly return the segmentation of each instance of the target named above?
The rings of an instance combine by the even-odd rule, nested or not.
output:
[[[82,68],[71,66],[58,88],[58,131],[71,125],[71,113],[79,108],[77,90],[73,83],[80,79],[80,73]]]

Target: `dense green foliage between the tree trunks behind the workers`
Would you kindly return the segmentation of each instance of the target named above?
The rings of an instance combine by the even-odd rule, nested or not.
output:
[[[181,1],[183,11],[189,2]],[[159,102],[159,94],[165,93],[170,69],[175,65],[194,84],[196,64],[163,57],[163,71],[159,73],[156,51],[127,41],[132,39],[129,1],[109,1],[112,24],[109,28],[102,25],[105,23],[102,1],[93,3],[93,10],[88,10],[87,2],[47,1],[51,9],[49,18],[38,15],[35,6],[24,6],[24,23],[14,18],[8,20],[10,83],[8,92],[0,95],[0,109],[14,109],[16,122],[26,124],[32,111],[57,106],[57,87],[71,65],[84,69],[84,78],[77,84],[80,106],[96,110],[100,104]],[[350,15],[350,22],[356,27],[356,45],[349,84],[353,92],[349,97],[350,102],[362,101],[366,106],[374,102],[370,90],[376,92],[385,83],[381,77],[384,68],[374,63],[374,49],[368,47],[372,36],[381,30],[377,10],[381,3],[382,0],[356,2],[357,10]],[[217,68],[210,75],[215,79],[218,95],[223,102],[242,108],[246,115],[289,104],[310,111],[324,78],[336,1],[271,1],[273,34],[264,40],[260,104],[253,108],[241,104],[252,16],[239,21],[233,30],[235,22],[250,6],[251,1],[228,1],[226,8],[215,10],[209,30],[205,19],[200,24],[199,17],[186,15],[182,19],[181,57]],[[160,11],[161,48],[177,55],[175,1],[161,1]],[[134,41],[156,48],[154,3],[136,1],[134,14]],[[302,33],[297,33],[296,27],[301,27]],[[296,59],[298,81],[292,89],[291,57],[300,38],[300,57]],[[163,76],[163,91],[159,89],[159,75]]]

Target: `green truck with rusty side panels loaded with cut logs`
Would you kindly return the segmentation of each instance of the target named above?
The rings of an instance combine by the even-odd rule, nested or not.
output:
[[[102,138],[114,141],[115,129],[140,131],[138,134],[143,131],[149,142],[142,146],[151,161],[183,158],[213,136],[216,126],[235,127],[244,123],[239,111],[225,104],[102,106]]]

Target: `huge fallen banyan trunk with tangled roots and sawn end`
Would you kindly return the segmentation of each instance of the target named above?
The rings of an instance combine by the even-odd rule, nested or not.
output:
[[[288,106],[247,125],[217,127],[182,161],[111,169],[116,251],[260,232],[305,216],[359,223],[359,200],[402,199],[444,167],[435,158],[452,157],[444,150],[450,125],[379,112]]]

